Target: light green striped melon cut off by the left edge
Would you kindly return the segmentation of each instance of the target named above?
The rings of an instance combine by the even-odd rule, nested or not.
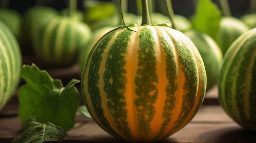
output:
[[[0,110],[9,101],[20,81],[20,47],[14,34],[0,21]]]

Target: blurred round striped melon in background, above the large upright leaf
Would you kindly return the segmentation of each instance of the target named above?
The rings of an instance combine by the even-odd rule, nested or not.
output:
[[[40,27],[34,41],[36,57],[47,66],[71,66],[88,42],[90,27],[67,16],[52,18]]]

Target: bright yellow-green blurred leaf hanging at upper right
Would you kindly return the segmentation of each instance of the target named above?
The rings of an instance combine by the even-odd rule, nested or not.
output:
[[[211,0],[198,0],[191,22],[194,29],[214,37],[219,29],[221,11]]]

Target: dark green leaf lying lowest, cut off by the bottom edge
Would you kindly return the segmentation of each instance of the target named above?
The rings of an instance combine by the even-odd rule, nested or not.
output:
[[[13,143],[43,143],[45,141],[62,141],[67,133],[50,122],[42,124],[30,117],[22,124],[19,136],[13,139]]]

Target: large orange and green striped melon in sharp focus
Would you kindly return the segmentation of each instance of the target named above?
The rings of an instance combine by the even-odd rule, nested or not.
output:
[[[132,27],[135,29],[135,27]],[[81,76],[85,106],[118,139],[158,141],[198,112],[206,90],[193,42],[167,26],[119,27],[92,48]]]

